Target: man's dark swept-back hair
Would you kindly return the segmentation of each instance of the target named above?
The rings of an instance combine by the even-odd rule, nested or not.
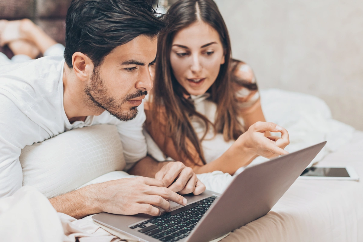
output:
[[[69,67],[75,52],[99,66],[114,48],[139,35],[156,36],[166,27],[152,0],[73,0],[66,16],[64,58]]]

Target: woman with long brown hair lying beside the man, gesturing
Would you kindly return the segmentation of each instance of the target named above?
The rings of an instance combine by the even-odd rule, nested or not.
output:
[[[257,122],[265,118],[253,72],[231,59],[216,4],[180,0],[169,15],[171,29],[158,37],[155,86],[145,106],[146,128],[156,144],[195,173],[233,174],[258,155],[286,154],[287,131]]]

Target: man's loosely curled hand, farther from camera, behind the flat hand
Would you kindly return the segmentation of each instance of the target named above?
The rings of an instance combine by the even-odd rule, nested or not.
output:
[[[193,169],[180,161],[165,164],[155,174],[155,179],[161,180],[164,186],[179,194],[193,193],[199,195],[205,190],[205,185],[199,181]]]

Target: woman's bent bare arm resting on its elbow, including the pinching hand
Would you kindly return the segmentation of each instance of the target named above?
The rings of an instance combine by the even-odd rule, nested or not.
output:
[[[248,132],[241,135],[240,138],[234,142],[234,144],[221,155],[218,159],[212,161],[211,163],[203,165],[195,147],[192,145],[190,140],[187,140],[187,145],[189,151],[195,154],[194,162],[188,159],[183,159],[183,157],[176,151],[174,142],[171,138],[165,137],[165,119],[161,118],[160,126],[158,130],[152,130],[151,123],[151,111],[148,110],[147,105],[145,105],[146,113],[146,128],[154,139],[155,143],[160,147],[160,149],[172,159],[177,161],[182,161],[186,166],[191,167],[196,174],[208,173],[213,171],[222,171],[224,173],[229,173],[231,175],[237,171],[238,168],[248,165],[256,155],[264,155],[265,157],[273,157],[276,155],[285,154],[286,151],[281,148],[285,148],[286,138],[284,139],[283,145],[277,146],[272,140],[265,137],[264,132],[266,130],[273,132],[280,132],[274,127],[276,124],[264,123],[257,127],[252,127]],[[163,114],[160,114],[162,117]],[[260,122],[261,123],[261,122]],[[266,125],[269,125],[268,127]],[[265,127],[265,126],[266,127]],[[256,126],[256,125],[254,125]],[[285,131],[285,130],[284,130]],[[287,133],[287,131],[286,131]],[[164,147],[164,142],[166,141],[166,147]],[[287,135],[288,141],[288,135]],[[271,143],[269,143],[271,142]],[[280,141],[281,142],[281,141]],[[258,144],[258,145],[257,145]],[[285,145],[285,146],[284,146]],[[281,147],[281,148],[279,148]],[[268,149],[268,151],[266,151]]]

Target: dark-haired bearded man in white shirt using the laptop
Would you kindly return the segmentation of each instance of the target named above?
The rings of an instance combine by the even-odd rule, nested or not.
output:
[[[186,204],[176,192],[205,190],[191,168],[146,156],[142,99],[153,86],[148,67],[155,62],[156,36],[165,27],[151,2],[73,0],[64,58],[0,67],[0,197],[22,185],[22,148],[95,124],[117,126],[126,169],[146,177],[93,184],[51,198],[58,212],[76,218],[99,212],[158,216],[155,206],[170,210],[167,200]],[[148,178],[155,175],[159,180]]]

